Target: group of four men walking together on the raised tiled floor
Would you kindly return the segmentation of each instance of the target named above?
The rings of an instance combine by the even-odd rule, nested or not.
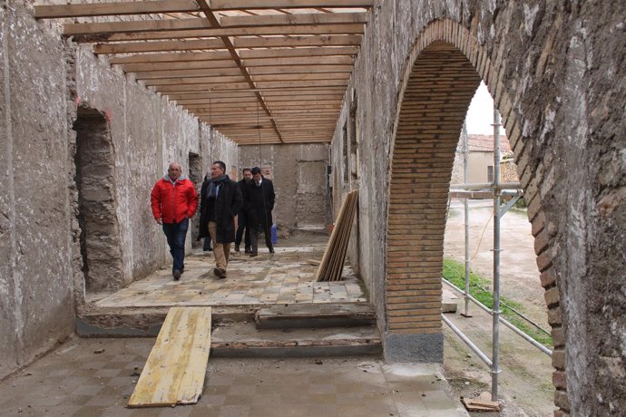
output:
[[[200,196],[190,179],[182,175],[181,165],[172,162],[168,173],[154,185],[151,194],[152,215],[162,225],[170,246],[173,263],[171,275],[175,280],[184,272],[185,238],[189,219],[195,214],[200,201],[198,238],[210,238],[215,257],[213,273],[226,278],[230,247],[240,252],[244,240],[245,253],[259,255],[259,233],[265,235],[265,244],[274,253],[270,228],[271,211],[275,194],[271,179],[261,174],[259,167],[242,172],[239,182],[226,174],[226,164],[216,160],[211,164],[210,176],[202,182]],[[235,218],[238,228],[235,229]]]

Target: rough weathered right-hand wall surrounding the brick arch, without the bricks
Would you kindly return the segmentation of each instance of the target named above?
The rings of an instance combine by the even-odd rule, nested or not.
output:
[[[469,32],[512,135],[529,205],[556,345],[555,403],[576,415],[619,413],[626,401],[625,8],[608,1],[378,1],[332,144],[341,172],[342,126],[357,102],[360,274],[385,332],[386,190],[398,98],[416,58],[409,53],[437,19]],[[469,44],[452,27],[428,39]]]

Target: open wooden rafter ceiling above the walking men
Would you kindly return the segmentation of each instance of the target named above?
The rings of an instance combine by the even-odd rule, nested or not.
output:
[[[373,4],[71,1],[34,15],[240,144],[331,140]]]

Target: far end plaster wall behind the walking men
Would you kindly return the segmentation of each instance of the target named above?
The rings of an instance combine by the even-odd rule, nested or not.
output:
[[[327,144],[240,147],[240,168],[269,168],[276,192],[274,222],[279,234],[297,226],[323,226],[329,220]],[[239,173],[239,176],[241,174]]]

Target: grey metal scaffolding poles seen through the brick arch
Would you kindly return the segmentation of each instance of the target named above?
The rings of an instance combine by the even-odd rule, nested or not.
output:
[[[525,341],[530,344],[533,344],[537,349],[539,349],[543,354],[547,354],[552,356],[552,351],[543,344],[535,341],[531,336],[526,335],[517,327],[512,325],[506,319],[504,319],[502,315],[502,310],[500,309],[500,252],[502,251],[500,245],[500,221],[503,218],[504,214],[512,208],[523,196],[523,190],[520,183],[514,182],[501,182],[500,178],[500,127],[502,126],[500,121],[500,113],[497,109],[494,108],[494,182],[491,183],[468,183],[468,159],[469,159],[469,150],[467,143],[467,131],[465,130],[465,124],[463,126],[463,138],[464,138],[464,184],[452,186],[451,191],[455,190],[455,196],[464,199],[464,211],[465,211],[465,288],[461,289],[451,282],[447,281],[445,278],[442,278],[446,285],[452,287],[455,291],[464,296],[465,299],[465,308],[464,312],[461,313],[464,317],[471,317],[472,315],[469,312],[469,304],[474,303],[478,305],[481,309],[483,309],[488,314],[492,315],[493,324],[492,324],[492,356],[491,359],[484,354],[478,346],[476,346],[470,339],[467,337],[458,327],[456,327],[445,315],[442,316],[442,320],[446,325],[452,329],[455,335],[458,335],[467,346],[469,346],[474,354],[478,355],[478,357],[487,364],[491,371],[492,377],[492,386],[491,386],[491,396],[492,401],[498,400],[498,375],[501,373],[500,364],[499,364],[499,355],[500,355],[500,324],[509,327],[514,331],[516,335],[520,335],[523,337]],[[482,304],[480,301],[476,300],[473,296],[470,295],[469,285],[470,285],[470,257],[469,257],[469,205],[468,199],[474,197],[475,190],[479,189],[490,189],[489,194],[494,199],[494,307],[489,308],[486,305]],[[504,204],[503,207],[500,207],[502,204],[502,199],[504,197],[511,198]]]

